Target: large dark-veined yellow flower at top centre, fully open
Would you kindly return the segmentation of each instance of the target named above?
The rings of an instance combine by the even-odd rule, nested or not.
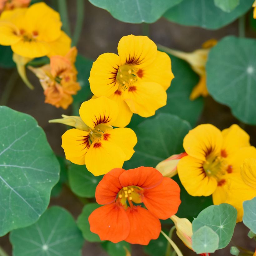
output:
[[[91,91],[117,102],[120,115],[115,125],[124,127],[136,113],[153,116],[166,105],[166,90],[174,78],[170,57],[157,51],[146,36],[122,37],[114,53],[101,54],[90,73]]]

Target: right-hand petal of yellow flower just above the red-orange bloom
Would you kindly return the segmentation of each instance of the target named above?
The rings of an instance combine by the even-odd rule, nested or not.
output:
[[[107,134],[109,134],[107,140],[118,145],[126,154],[125,161],[129,160],[135,152],[133,148],[137,143],[135,132],[130,128],[116,128],[108,130]]]

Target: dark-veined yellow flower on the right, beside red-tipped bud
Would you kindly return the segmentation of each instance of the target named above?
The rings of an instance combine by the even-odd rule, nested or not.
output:
[[[225,202],[227,181],[239,175],[244,159],[256,158],[249,135],[238,125],[223,131],[199,125],[185,136],[183,147],[188,155],[177,166],[182,185],[192,196],[212,194],[214,204]]]

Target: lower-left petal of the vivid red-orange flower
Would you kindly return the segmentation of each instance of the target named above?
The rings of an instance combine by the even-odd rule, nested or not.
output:
[[[130,232],[126,211],[115,203],[97,208],[88,220],[91,232],[99,235],[101,240],[118,243],[126,239]]]

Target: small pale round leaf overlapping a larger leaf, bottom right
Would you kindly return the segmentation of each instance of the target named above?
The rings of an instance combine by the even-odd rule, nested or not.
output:
[[[197,254],[214,253],[219,247],[219,236],[208,226],[199,228],[192,235],[192,248]]]

